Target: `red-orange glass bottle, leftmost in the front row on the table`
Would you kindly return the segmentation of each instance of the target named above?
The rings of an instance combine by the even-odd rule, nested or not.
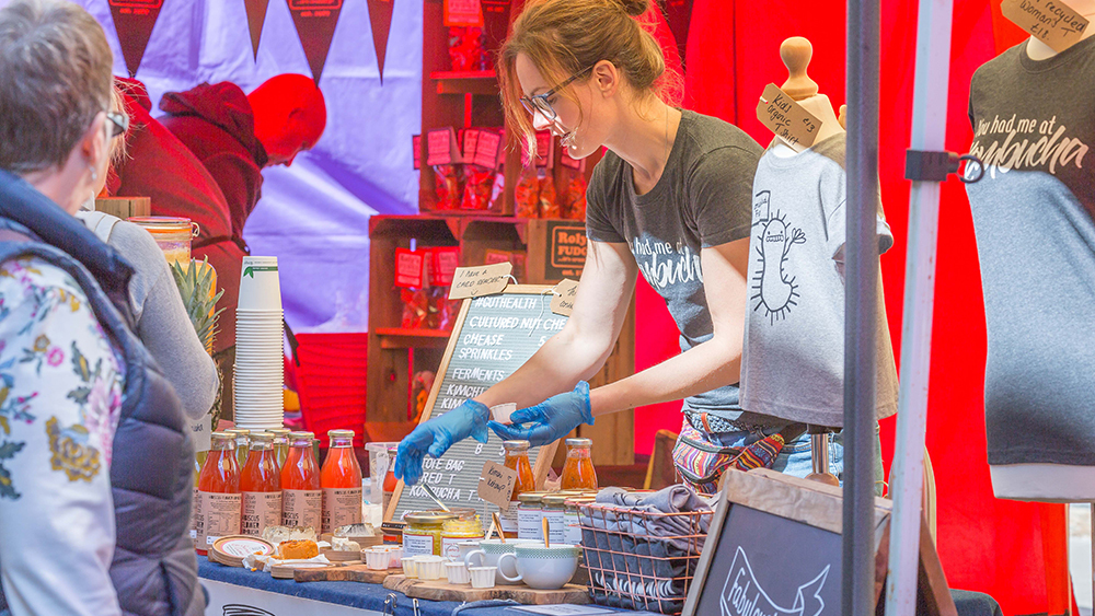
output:
[[[198,476],[195,515],[198,554],[206,554],[220,537],[240,534],[240,466],[232,434],[214,432],[212,448]]]

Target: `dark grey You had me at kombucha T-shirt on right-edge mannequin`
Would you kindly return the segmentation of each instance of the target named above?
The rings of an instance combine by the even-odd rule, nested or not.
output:
[[[970,83],[988,457],[1095,466],[1095,36],[1042,61],[1026,45]]]

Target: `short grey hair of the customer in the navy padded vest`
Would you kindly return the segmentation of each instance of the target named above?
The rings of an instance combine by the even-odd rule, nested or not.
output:
[[[60,166],[111,107],[114,56],[102,26],[68,0],[0,9],[0,168]]]

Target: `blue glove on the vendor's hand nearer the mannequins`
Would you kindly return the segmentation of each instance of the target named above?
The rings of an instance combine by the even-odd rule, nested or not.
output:
[[[534,448],[557,441],[583,423],[592,426],[589,383],[579,381],[573,392],[516,410],[509,416],[509,420],[511,426],[497,421],[491,421],[487,426],[504,441],[528,441]]]

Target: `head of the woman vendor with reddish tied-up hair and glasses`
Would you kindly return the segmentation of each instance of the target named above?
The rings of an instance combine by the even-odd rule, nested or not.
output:
[[[672,80],[661,47],[635,18],[649,0],[530,0],[498,55],[509,124],[530,150],[551,129],[588,156],[621,114],[642,113]],[[540,94],[541,96],[537,97]],[[543,94],[551,94],[548,97]],[[530,113],[530,107],[539,109]]]

